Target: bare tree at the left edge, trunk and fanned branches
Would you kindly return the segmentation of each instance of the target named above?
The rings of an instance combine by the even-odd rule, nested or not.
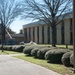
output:
[[[0,21],[2,29],[2,46],[5,44],[5,29],[21,15],[22,2],[17,0],[0,0]]]

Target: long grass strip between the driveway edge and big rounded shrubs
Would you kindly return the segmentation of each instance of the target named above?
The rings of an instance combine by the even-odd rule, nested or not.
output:
[[[29,62],[37,64],[37,65],[41,65],[45,68],[48,68],[55,72],[58,72],[62,75],[75,75],[75,74],[73,74],[73,71],[71,71],[72,68],[65,67],[64,65],[61,65],[61,64],[51,64],[51,63],[47,63],[46,60],[34,59],[33,57],[29,57],[29,56],[25,56],[25,55],[15,56],[15,57],[29,61]]]

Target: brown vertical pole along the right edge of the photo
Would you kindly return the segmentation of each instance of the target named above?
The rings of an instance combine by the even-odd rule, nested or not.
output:
[[[74,53],[74,73],[75,73],[75,0],[73,0],[73,53]]]

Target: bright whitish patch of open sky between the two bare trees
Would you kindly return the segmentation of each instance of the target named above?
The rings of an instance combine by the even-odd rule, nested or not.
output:
[[[23,29],[23,25],[31,23],[32,21],[27,21],[27,20],[21,20],[21,19],[16,19],[14,22],[10,24],[10,29],[13,30],[16,33],[20,32],[20,29]]]

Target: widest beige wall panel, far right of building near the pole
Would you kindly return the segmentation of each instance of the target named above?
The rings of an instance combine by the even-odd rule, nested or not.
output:
[[[64,21],[65,26],[65,44],[70,44],[70,19]]]

